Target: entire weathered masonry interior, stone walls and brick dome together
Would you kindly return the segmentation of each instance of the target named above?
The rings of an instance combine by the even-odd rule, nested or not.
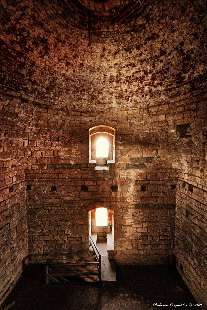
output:
[[[175,255],[205,310],[206,4],[104,3],[2,2],[1,304],[28,262],[90,258],[88,211],[106,207],[116,263]],[[95,126],[115,129],[109,170],[89,163]]]

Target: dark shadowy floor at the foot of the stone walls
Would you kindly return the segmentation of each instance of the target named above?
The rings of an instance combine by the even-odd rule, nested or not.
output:
[[[200,310],[189,306],[196,301],[176,269],[116,265],[116,278],[115,287],[83,281],[45,286],[43,266],[29,265],[4,306],[15,301],[11,310]]]

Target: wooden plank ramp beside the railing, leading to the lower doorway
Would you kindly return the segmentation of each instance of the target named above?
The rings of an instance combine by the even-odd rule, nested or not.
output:
[[[106,254],[101,254],[101,283],[107,286],[115,286],[116,284],[115,261],[109,260]]]

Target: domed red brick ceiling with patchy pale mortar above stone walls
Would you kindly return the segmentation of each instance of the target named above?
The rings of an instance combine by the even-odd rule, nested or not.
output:
[[[140,107],[205,85],[203,0],[0,4],[0,84],[5,90],[90,110]]]

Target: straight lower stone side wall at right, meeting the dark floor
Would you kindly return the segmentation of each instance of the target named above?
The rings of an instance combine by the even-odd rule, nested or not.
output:
[[[175,253],[178,259],[178,271],[196,301],[206,309],[206,189],[200,188],[197,184],[189,190],[188,185],[185,182],[178,183]]]

